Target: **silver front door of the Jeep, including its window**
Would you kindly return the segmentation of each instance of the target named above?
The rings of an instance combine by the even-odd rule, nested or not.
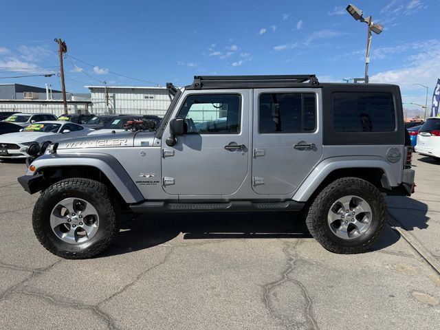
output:
[[[162,184],[170,195],[231,195],[248,173],[250,91],[186,91],[173,118],[186,133],[175,146],[162,137]]]

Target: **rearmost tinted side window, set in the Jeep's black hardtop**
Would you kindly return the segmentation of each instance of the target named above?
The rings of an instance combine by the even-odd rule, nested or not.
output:
[[[395,122],[391,93],[333,93],[336,132],[392,132]]]

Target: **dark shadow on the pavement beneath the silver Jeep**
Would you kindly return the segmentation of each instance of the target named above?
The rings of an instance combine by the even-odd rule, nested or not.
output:
[[[303,217],[289,212],[194,212],[126,214],[115,240],[100,256],[113,256],[152,248],[183,234],[200,239],[310,239]],[[373,250],[399,241],[387,226]],[[317,243],[318,244],[318,243]],[[100,257],[98,256],[98,257]]]

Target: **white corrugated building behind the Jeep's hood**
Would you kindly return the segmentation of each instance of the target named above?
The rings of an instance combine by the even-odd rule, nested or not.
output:
[[[166,87],[85,86],[90,90],[93,112],[164,116],[170,104]]]

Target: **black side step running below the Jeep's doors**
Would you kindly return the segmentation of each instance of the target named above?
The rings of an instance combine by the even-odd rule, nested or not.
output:
[[[133,212],[221,212],[221,211],[299,211],[305,203],[300,201],[281,201],[261,203],[252,201],[230,201],[228,203],[169,203],[164,201],[144,201],[131,204]]]

